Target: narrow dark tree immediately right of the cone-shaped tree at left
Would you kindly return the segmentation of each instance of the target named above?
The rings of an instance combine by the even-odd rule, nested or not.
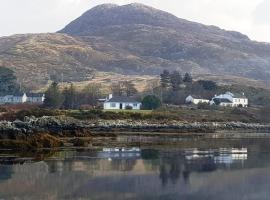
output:
[[[70,87],[66,87],[63,91],[63,107],[65,109],[74,109],[76,107],[77,92],[73,84]]]

